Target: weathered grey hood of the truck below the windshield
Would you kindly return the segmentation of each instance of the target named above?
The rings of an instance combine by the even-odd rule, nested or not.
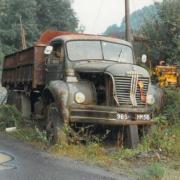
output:
[[[131,74],[139,74],[142,77],[149,77],[146,69],[133,65],[116,62],[81,62],[75,65],[77,72],[104,72],[114,76],[128,76]]]

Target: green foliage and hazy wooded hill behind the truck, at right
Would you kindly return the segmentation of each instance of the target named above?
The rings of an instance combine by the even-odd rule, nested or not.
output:
[[[141,43],[134,42],[136,56],[146,53],[153,65],[158,64],[160,59],[180,65],[179,9],[179,0],[163,0],[131,14],[133,35],[142,38]],[[120,27],[109,26],[105,34],[124,37],[124,31],[125,19]]]

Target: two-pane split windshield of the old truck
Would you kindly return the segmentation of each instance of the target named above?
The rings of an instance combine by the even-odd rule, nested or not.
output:
[[[69,41],[68,57],[77,60],[110,60],[133,63],[133,53],[129,46],[106,41]]]

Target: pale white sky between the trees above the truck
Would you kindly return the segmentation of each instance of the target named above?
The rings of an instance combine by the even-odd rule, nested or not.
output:
[[[124,0],[73,0],[72,7],[85,26],[85,33],[101,34],[109,25],[121,24],[124,17]],[[129,0],[130,12],[161,0]]]

